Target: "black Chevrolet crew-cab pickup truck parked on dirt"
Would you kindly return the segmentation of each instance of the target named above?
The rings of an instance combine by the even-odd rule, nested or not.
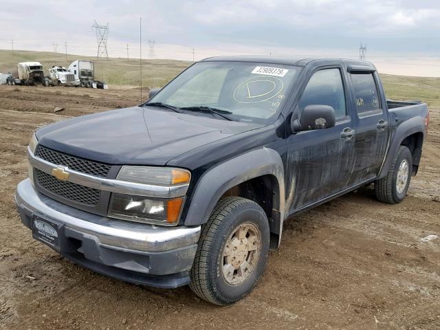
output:
[[[16,202],[75,263],[226,305],[285,219],[371,183],[404,199],[427,130],[426,104],[387,100],[371,63],[207,58],[137,107],[38,129]]]

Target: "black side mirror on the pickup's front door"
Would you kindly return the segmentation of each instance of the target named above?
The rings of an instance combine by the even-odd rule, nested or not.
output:
[[[293,132],[329,129],[335,126],[335,109],[329,105],[311,104],[304,108],[300,119],[292,120]]]

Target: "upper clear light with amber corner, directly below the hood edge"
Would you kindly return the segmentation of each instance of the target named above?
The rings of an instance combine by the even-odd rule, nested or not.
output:
[[[118,179],[141,182],[142,184],[158,184],[160,186],[175,186],[189,184],[191,173],[181,168],[122,166]]]

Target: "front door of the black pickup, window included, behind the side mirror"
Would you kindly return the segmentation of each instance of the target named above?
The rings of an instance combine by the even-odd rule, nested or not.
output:
[[[345,85],[342,68],[326,67],[312,74],[300,96],[298,115],[311,104],[329,105],[335,109],[336,124],[328,129],[300,131],[287,138],[289,214],[351,184],[355,132]]]

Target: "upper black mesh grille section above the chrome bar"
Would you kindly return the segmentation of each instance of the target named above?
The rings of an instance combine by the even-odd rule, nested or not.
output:
[[[111,165],[74,157],[72,155],[60,153],[41,145],[36,149],[36,156],[54,165],[67,166],[71,170],[77,170],[81,173],[95,175],[96,177],[107,177],[107,174],[109,174],[109,170],[111,168]]]

